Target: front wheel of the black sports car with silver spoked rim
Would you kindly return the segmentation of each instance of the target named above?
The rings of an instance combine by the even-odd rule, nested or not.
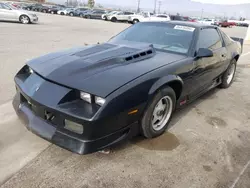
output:
[[[163,108],[160,108],[161,110],[157,111],[157,108],[161,106],[160,104],[164,100],[165,102],[168,101],[168,105],[165,104],[166,109],[163,110]],[[164,87],[161,90],[159,90],[154,95],[153,99],[150,101],[142,117],[141,120],[142,135],[146,138],[154,138],[162,135],[169,125],[173,111],[175,110],[175,105],[176,105],[176,95],[172,88]],[[163,117],[160,121],[157,119],[160,117],[159,115]],[[157,121],[159,121],[158,122],[160,124],[159,126],[155,125],[154,122],[157,121],[155,121],[154,119],[157,119]]]

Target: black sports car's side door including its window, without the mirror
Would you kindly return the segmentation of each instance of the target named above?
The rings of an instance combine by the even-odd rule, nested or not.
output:
[[[212,57],[194,58],[193,80],[197,83],[194,86],[194,93],[199,95],[204,90],[216,84],[216,79],[221,74],[224,64],[226,48],[215,28],[201,29],[196,45],[196,52],[199,48],[208,48],[213,51]]]

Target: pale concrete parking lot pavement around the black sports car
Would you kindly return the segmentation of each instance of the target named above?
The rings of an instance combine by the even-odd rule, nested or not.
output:
[[[130,25],[38,16],[38,24],[0,22],[0,188],[250,187],[250,46],[244,46],[233,85],[177,111],[161,137],[81,156],[24,128],[11,106],[13,77],[34,57],[104,42]],[[244,38],[247,28],[224,30]]]

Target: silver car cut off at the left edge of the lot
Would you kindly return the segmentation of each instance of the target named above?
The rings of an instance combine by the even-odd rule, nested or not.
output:
[[[0,2],[0,20],[18,21],[23,24],[35,23],[38,21],[36,14],[21,9],[7,3]]]

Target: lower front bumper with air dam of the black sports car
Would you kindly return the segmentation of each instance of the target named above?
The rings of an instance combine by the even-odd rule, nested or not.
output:
[[[109,135],[85,140],[61,131],[51,123],[37,116],[26,103],[21,102],[18,91],[13,99],[13,107],[28,130],[41,138],[78,154],[88,154],[115,145],[138,133],[138,124],[133,123]],[[112,126],[112,125],[111,125]]]

